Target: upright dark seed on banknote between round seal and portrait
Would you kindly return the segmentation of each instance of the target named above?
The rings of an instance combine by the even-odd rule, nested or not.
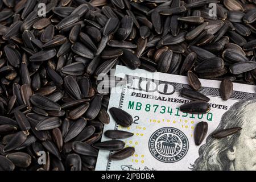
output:
[[[200,146],[200,144],[203,142],[205,137],[207,136],[208,131],[208,123],[201,121],[197,123],[196,129],[195,129],[195,143],[197,146]]]

